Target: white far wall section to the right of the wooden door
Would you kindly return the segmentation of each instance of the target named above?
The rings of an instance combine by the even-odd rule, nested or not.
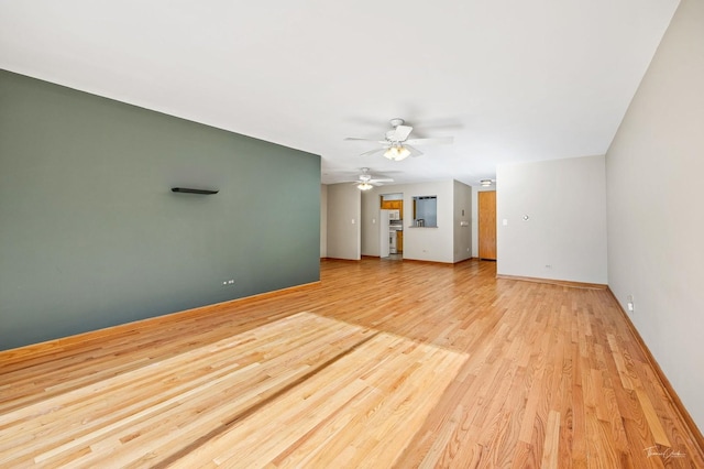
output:
[[[498,274],[606,284],[604,156],[505,164],[496,181]]]

